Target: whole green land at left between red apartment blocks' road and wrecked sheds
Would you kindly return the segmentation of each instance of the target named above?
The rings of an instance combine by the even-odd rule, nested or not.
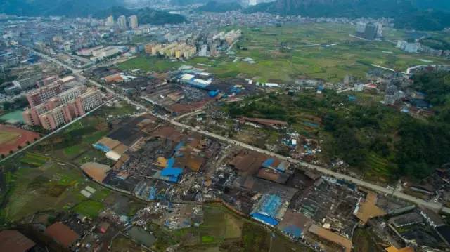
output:
[[[92,144],[110,132],[108,118],[135,112],[134,107],[124,102],[102,107],[27,152],[1,163],[2,183],[6,186],[0,192],[0,223],[30,218],[41,211],[72,211],[95,218],[105,206],[113,206],[120,194],[86,178],[79,166],[86,161],[109,164],[105,154],[94,150]],[[80,193],[86,186],[96,189],[90,199]],[[129,205],[120,211],[127,213],[133,209]]]

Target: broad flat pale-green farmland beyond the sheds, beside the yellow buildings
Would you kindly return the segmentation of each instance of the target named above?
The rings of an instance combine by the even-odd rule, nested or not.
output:
[[[231,28],[229,28],[231,29]],[[237,46],[245,48],[233,51],[238,57],[250,57],[256,64],[236,61],[224,55],[210,60],[193,58],[186,62],[171,62],[162,58],[139,56],[119,65],[121,69],[141,68],[146,71],[164,72],[180,65],[194,65],[227,78],[247,77],[258,81],[293,81],[298,77],[342,81],[346,74],[364,77],[373,65],[396,71],[423,64],[421,60],[449,64],[450,60],[428,55],[406,53],[395,48],[401,39],[401,30],[385,29],[390,41],[364,41],[349,36],[354,33],[352,25],[304,24],[284,27],[233,27],[241,29],[243,37]],[[211,65],[205,67],[204,65]]]

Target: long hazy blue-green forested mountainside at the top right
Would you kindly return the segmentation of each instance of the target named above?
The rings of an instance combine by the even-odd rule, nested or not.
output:
[[[310,17],[394,18],[399,28],[441,30],[450,27],[446,0],[277,0],[245,9],[246,13],[268,12]]]

